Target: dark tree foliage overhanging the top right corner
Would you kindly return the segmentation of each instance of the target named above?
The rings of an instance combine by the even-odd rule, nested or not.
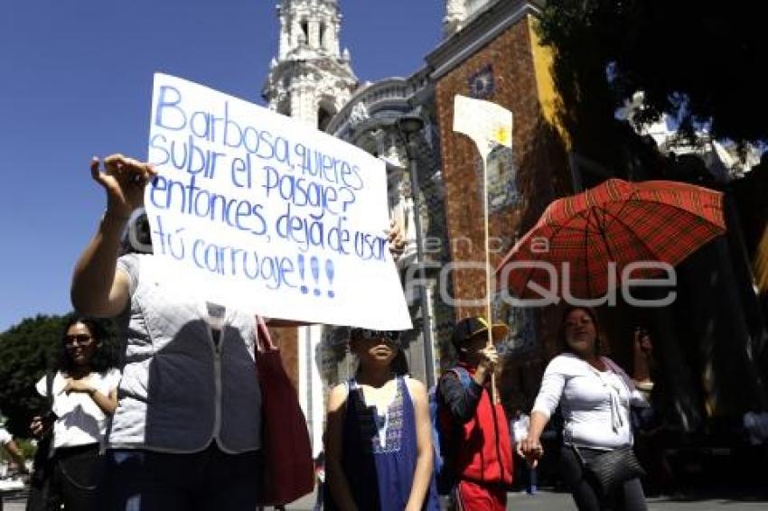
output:
[[[544,7],[540,33],[558,85],[574,91],[566,110],[593,98],[613,110],[642,90],[646,120],[666,112],[745,143],[768,140],[764,20],[762,3],[746,0],[560,0]]]

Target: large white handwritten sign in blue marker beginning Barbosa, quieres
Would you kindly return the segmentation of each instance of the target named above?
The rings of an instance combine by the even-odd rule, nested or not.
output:
[[[273,318],[411,328],[379,159],[158,73],[148,160],[155,256],[190,293]]]

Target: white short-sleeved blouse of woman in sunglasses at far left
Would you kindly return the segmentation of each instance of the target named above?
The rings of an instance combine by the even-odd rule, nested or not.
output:
[[[120,371],[109,369],[104,374],[91,373],[88,376],[90,386],[103,395],[108,395],[117,388],[120,381]],[[60,447],[76,447],[90,443],[101,443],[107,432],[108,416],[93,401],[93,398],[82,392],[64,392],[66,377],[61,372],[56,373],[52,382],[53,413],[59,417],[53,423],[53,449]],[[38,394],[46,397],[45,376],[35,385]]]

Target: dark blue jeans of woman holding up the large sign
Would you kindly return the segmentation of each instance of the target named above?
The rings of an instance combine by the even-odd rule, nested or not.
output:
[[[111,511],[254,511],[259,451],[170,454],[117,449],[107,453],[106,509]]]

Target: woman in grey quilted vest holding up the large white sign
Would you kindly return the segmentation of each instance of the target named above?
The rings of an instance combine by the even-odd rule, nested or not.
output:
[[[116,318],[125,349],[102,508],[253,511],[261,448],[255,318],[194,299],[160,257],[119,256],[155,171],[121,154],[103,163],[105,172],[97,158],[90,170],[107,209],[71,288],[78,311]]]

